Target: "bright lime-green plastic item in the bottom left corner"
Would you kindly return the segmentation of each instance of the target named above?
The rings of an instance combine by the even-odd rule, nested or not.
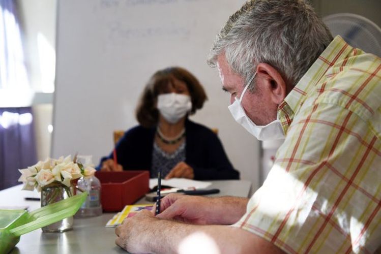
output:
[[[11,251],[21,235],[73,216],[86,197],[84,192],[32,212],[0,209],[0,253]]]

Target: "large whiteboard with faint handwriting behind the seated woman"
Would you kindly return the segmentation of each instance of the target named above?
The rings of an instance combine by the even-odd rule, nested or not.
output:
[[[191,119],[218,128],[241,178],[258,184],[259,142],[231,117],[218,72],[206,63],[215,35],[244,0],[60,0],[51,155],[112,148],[113,130],[137,124],[145,83],[159,69],[181,66],[209,100]]]

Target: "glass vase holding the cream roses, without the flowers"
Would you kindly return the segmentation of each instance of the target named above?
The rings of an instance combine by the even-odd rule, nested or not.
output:
[[[73,186],[52,183],[41,188],[41,207],[72,196]],[[43,232],[65,232],[73,229],[73,216],[41,228]]]

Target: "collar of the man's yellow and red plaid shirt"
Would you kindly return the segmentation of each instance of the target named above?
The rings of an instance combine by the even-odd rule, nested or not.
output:
[[[291,124],[295,112],[303,105],[311,89],[319,83],[335,63],[345,59],[352,49],[340,36],[336,36],[308,69],[306,74],[287,94],[284,101],[278,107],[278,115],[284,133],[287,133],[288,126]]]

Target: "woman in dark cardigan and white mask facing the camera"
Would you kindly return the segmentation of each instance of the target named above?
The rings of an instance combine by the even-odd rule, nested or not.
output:
[[[217,135],[188,119],[201,109],[207,95],[187,70],[171,67],[156,72],[146,84],[136,110],[140,125],[128,130],[113,153],[103,157],[101,171],[161,168],[165,179],[239,179]]]

